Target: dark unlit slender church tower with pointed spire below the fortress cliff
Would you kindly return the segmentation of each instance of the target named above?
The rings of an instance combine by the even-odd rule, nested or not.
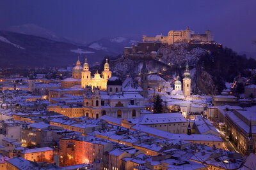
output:
[[[143,66],[140,73],[140,85],[143,89],[142,96],[147,98],[148,97],[148,69],[146,67],[145,60],[143,61]]]

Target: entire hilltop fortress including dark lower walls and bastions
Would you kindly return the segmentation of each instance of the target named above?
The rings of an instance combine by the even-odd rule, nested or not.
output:
[[[163,34],[154,37],[142,36],[142,42],[124,48],[124,56],[134,59],[138,57],[156,59],[162,55],[157,52],[161,46],[172,49],[172,46],[177,43],[188,43],[188,50],[200,47],[214,52],[222,49],[222,45],[214,41],[212,31],[207,30],[205,34],[195,34],[188,27],[186,30],[169,31],[168,36],[163,36]]]

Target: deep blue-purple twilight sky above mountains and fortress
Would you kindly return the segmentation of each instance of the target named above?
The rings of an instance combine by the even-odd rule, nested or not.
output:
[[[255,0],[1,0],[0,29],[36,24],[59,36],[93,41],[106,36],[167,34],[190,27],[212,30],[237,52],[255,52]]]

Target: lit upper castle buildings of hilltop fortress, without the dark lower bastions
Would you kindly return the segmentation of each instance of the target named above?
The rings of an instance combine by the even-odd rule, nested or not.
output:
[[[157,35],[155,37],[142,36],[143,42],[160,41],[161,43],[173,45],[180,42],[212,42],[212,31],[205,31],[205,34],[195,34],[191,29],[180,31],[169,31],[168,36]]]

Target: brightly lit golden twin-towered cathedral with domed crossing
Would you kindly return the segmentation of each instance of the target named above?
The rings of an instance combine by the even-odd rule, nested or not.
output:
[[[61,88],[85,88],[90,86],[92,88],[98,87],[100,90],[106,90],[108,78],[111,78],[112,74],[111,71],[109,71],[108,59],[106,59],[104,64],[104,71],[102,71],[102,75],[100,75],[98,71],[93,76],[91,74],[87,59],[85,58],[83,67],[78,59],[76,66],[72,69],[72,77],[62,80]]]

